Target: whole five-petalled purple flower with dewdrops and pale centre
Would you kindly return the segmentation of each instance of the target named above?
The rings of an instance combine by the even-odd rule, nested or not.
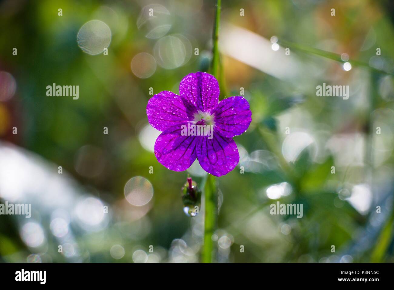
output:
[[[212,175],[229,173],[240,160],[232,137],[245,132],[252,121],[248,101],[236,96],[219,102],[217,80],[201,72],[184,77],[179,92],[163,91],[148,101],[148,121],[163,132],[154,144],[157,160],[170,170],[183,171],[197,158]],[[185,135],[188,125],[210,126],[213,134]]]

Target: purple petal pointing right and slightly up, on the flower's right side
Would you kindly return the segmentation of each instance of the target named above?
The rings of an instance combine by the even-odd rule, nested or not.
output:
[[[252,122],[252,112],[249,109],[249,103],[241,96],[230,97],[220,101],[212,113],[215,116],[215,131],[229,138],[241,135]]]

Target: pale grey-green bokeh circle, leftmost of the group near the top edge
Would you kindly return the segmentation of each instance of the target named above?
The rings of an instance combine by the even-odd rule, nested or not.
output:
[[[100,20],[86,22],[78,31],[77,42],[82,51],[96,55],[111,43],[111,30]]]

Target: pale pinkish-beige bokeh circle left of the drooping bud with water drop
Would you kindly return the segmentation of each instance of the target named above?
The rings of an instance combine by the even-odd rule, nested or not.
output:
[[[143,206],[153,197],[152,184],[141,176],[133,177],[125,185],[125,197],[133,206]]]

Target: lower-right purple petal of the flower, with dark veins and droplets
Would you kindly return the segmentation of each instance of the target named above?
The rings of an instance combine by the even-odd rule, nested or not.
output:
[[[234,140],[219,133],[214,134],[212,139],[208,139],[207,136],[200,138],[197,144],[197,158],[201,167],[214,176],[229,173],[240,161]]]

